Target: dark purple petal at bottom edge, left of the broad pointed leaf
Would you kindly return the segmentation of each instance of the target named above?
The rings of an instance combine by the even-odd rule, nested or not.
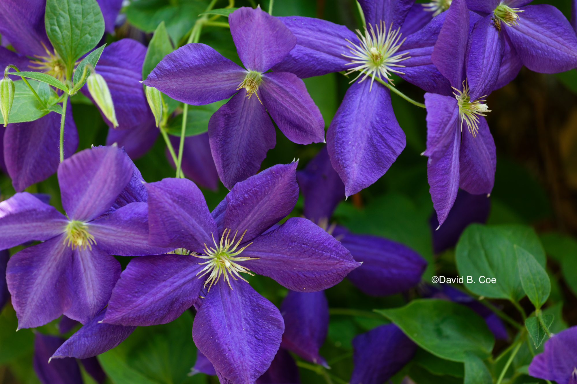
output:
[[[378,326],[353,339],[351,384],[388,381],[415,355],[417,345],[394,324]]]

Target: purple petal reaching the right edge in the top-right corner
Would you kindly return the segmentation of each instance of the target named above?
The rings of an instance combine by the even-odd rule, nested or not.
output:
[[[559,9],[527,5],[518,21],[519,25],[504,25],[504,29],[524,66],[540,73],[577,67],[577,36]]]

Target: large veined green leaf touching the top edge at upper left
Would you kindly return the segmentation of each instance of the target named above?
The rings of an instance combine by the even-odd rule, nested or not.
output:
[[[104,18],[96,0],[47,0],[44,24],[70,73],[74,62],[104,35]]]

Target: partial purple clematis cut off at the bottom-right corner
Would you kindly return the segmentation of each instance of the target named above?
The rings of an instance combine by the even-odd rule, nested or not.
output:
[[[545,351],[533,357],[529,374],[559,384],[577,383],[577,326],[551,336]]]

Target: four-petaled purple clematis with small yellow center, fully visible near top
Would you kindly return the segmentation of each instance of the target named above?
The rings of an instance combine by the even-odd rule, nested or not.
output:
[[[241,7],[228,22],[246,69],[205,44],[187,44],[166,55],[144,84],[195,106],[232,96],[208,123],[216,169],[231,189],[256,174],[276,144],[268,114],[297,144],[323,142],[324,121],[302,80],[293,73],[267,72],[295,46],[293,33],[260,7]],[[246,93],[238,92],[242,89]]]

